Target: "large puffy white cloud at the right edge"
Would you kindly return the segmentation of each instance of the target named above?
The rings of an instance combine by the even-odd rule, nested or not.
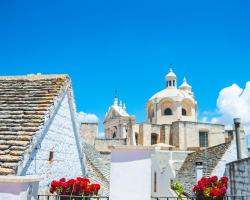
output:
[[[202,118],[208,120],[207,112]],[[231,128],[234,118],[241,118],[245,130],[250,131],[250,81],[244,89],[237,84],[222,89],[217,99],[217,115],[210,119],[212,123],[223,123]],[[211,115],[210,115],[211,116]]]

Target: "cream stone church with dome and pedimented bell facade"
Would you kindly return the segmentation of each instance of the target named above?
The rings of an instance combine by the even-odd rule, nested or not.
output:
[[[115,98],[104,119],[106,139],[180,150],[211,147],[230,139],[224,125],[198,122],[198,103],[186,78],[178,87],[177,76],[170,69],[165,81],[166,88],[146,103],[145,123],[136,123],[135,116],[128,114],[126,106]]]

